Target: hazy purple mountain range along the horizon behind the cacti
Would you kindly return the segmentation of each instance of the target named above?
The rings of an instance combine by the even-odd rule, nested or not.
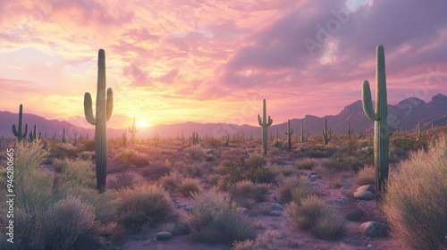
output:
[[[256,119],[256,118],[254,118]],[[274,119],[274,117],[273,117]],[[320,135],[323,127],[324,120],[327,119],[327,125],[333,129],[333,133],[340,134],[346,133],[348,129],[348,121],[350,121],[350,128],[358,133],[359,129],[372,130],[374,128],[374,122],[369,121],[363,113],[363,107],[361,101],[354,102],[347,105],[336,115],[326,115],[325,117],[316,117],[313,115],[306,115],[304,117],[304,129],[305,133],[311,135]],[[89,134],[89,137],[93,137],[94,129],[84,129],[72,125],[66,121],[46,120],[35,114],[24,113],[23,120],[29,124],[30,129],[34,124],[38,125],[38,131],[42,132],[42,136],[47,134],[47,137],[53,137],[56,133],[56,137],[60,138],[63,128],[66,129],[68,137],[74,137],[76,133],[79,137],[80,132],[83,135]],[[18,123],[18,114],[12,112],[0,112],[0,136],[13,137],[11,129],[12,124]],[[394,131],[397,127],[403,124],[404,129],[414,129],[417,125],[417,121],[420,121],[424,125],[424,129],[431,127],[433,122],[434,126],[445,125],[447,122],[447,96],[438,94],[433,96],[430,102],[426,103],[415,97],[410,97],[402,100],[398,104],[388,105],[388,123],[390,125],[390,131]],[[293,136],[298,136],[301,119],[291,119],[291,127],[293,128]],[[284,136],[287,129],[287,122],[280,124],[274,124],[268,128],[269,133],[273,136]],[[125,129],[107,129],[107,135],[109,137],[121,137],[122,132]],[[151,137],[155,133],[160,137],[181,137],[181,133],[184,137],[190,137],[193,131],[198,131],[200,137],[213,136],[223,137],[227,132],[231,136],[239,137],[260,137],[261,128],[259,126],[249,125],[235,125],[228,123],[197,123],[197,122],[184,122],[170,125],[156,125],[146,129],[140,129],[137,133],[137,137]],[[128,137],[130,137],[128,132]]]

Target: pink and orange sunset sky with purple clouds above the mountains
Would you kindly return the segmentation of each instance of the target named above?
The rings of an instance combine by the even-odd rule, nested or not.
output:
[[[106,2],[103,3],[103,2]],[[336,114],[385,49],[388,103],[447,95],[445,0],[0,1],[0,111],[90,127],[97,50],[114,114],[149,124],[257,124]]]

